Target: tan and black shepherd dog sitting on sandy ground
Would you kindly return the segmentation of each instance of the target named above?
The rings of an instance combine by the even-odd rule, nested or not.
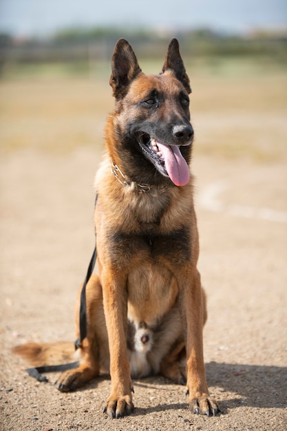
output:
[[[206,384],[202,330],[206,297],[190,172],[193,127],[189,78],[176,39],[162,72],[146,75],[125,39],[116,43],[110,85],[115,109],[95,180],[98,275],[87,284],[87,336],[77,368],[56,382],[66,392],[111,375],[104,412],[134,410],[131,378],[162,375],[187,385],[195,414],[220,408]],[[80,293],[76,303],[79,335]],[[61,350],[61,348],[59,348]],[[17,353],[47,363],[49,346]]]

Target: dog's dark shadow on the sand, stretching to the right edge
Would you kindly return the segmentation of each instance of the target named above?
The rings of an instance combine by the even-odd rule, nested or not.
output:
[[[98,381],[109,377],[94,379],[80,389],[94,388]],[[222,414],[240,406],[253,408],[286,408],[287,399],[287,368],[278,366],[256,366],[238,364],[206,364],[206,379],[217,401],[220,401]],[[137,387],[162,390],[171,382],[163,377],[147,377],[134,381]],[[163,410],[187,409],[187,399],[184,399],[182,386],[182,403],[161,403],[147,408],[136,406],[134,415],[142,415]],[[167,387],[170,390],[170,387]]]

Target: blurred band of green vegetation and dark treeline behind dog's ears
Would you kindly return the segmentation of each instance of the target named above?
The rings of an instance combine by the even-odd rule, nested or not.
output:
[[[214,74],[256,72],[287,65],[287,34],[256,32],[245,36],[201,29],[176,34],[120,28],[68,28],[50,39],[13,39],[0,34],[0,77],[107,77],[114,45],[125,37],[135,48],[140,65],[162,66],[171,37],[180,41],[184,62],[191,71],[202,67]],[[252,67],[251,67],[252,65]]]

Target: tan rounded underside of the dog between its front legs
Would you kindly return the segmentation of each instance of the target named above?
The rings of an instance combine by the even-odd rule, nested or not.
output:
[[[160,264],[142,264],[129,273],[128,315],[131,320],[155,324],[171,309],[178,295],[173,274]]]

